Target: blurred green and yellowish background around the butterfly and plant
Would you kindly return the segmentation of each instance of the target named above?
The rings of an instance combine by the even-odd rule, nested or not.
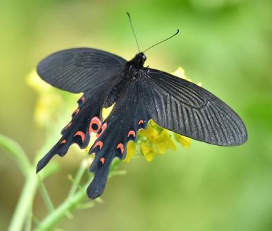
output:
[[[110,179],[103,205],[74,212],[63,230],[272,230],[272,3],[270,0],[1,1],[0,133],[31,159],[44,135],[33,120],[37,95],[25,76],[48,54],[88,46],[130,59],[136,54],[125,12],[147,52],[147,65],[182,66],[189,78],[231,105],[247,125],[243,146],[193,141],[190,148],[132,159]],[[69,118],[67,118],[68,120]],[[64,124],[63,124],[64,125]],[[23,176],[0,150],[0,230],[6,230]],[[65,197],[75,164],[45,181],[54,203]],[[37,196],[34,212],[46,209]]]

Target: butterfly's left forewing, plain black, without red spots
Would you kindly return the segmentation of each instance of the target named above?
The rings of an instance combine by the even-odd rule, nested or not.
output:
[[[125,66],[125,59],[92,48],[73,48],[51,54],[37,67],[39,76],[59,89],[85,92],[107,82]]]

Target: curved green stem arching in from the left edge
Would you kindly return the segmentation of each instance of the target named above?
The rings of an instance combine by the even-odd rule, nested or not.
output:
[[[14,140],[11,140],[9,137],[0,134],[0,146],[11,155],[21,168],[21,171],[25,177],[28,177],[29,170],[31,168],[30,161],[23,151],[23,148]]]

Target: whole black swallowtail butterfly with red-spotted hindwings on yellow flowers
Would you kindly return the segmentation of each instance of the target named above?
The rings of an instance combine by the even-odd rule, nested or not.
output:
[[[74,48],[51,54],[37,67],[39,76],[50,85],[83,92],[72,121],[62,137],[39,161],[37,172],[55,155],[67,153],[71,144],[85,148],[90,133],[97,140],[90,171],[94,179],[87,195],[94,199],[103,193],[109,167],[115,157],[124,159],[129,140],[154,120],[166,129],[194,140],[220,146],[237,146],[247,141],[240,117],[209,91],[166,72],[144,67],[143,52],[131,61],[92,48]],[[103,107],[114,109],[102,121]]]

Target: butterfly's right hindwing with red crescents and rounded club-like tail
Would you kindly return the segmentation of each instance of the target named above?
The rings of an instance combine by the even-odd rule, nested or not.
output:
[[[143,92],[138,80],[127,82],[90,149],[90,153],[95,153],[94,161],[90,166],[94,179],[87,188],[87,195],[91,199],[102,194],[112,160],[115,157],[125,158],[127,142],[135,140],[138,130],[145,128],[150,120],[147,110],[143,108],[141,94]]]

